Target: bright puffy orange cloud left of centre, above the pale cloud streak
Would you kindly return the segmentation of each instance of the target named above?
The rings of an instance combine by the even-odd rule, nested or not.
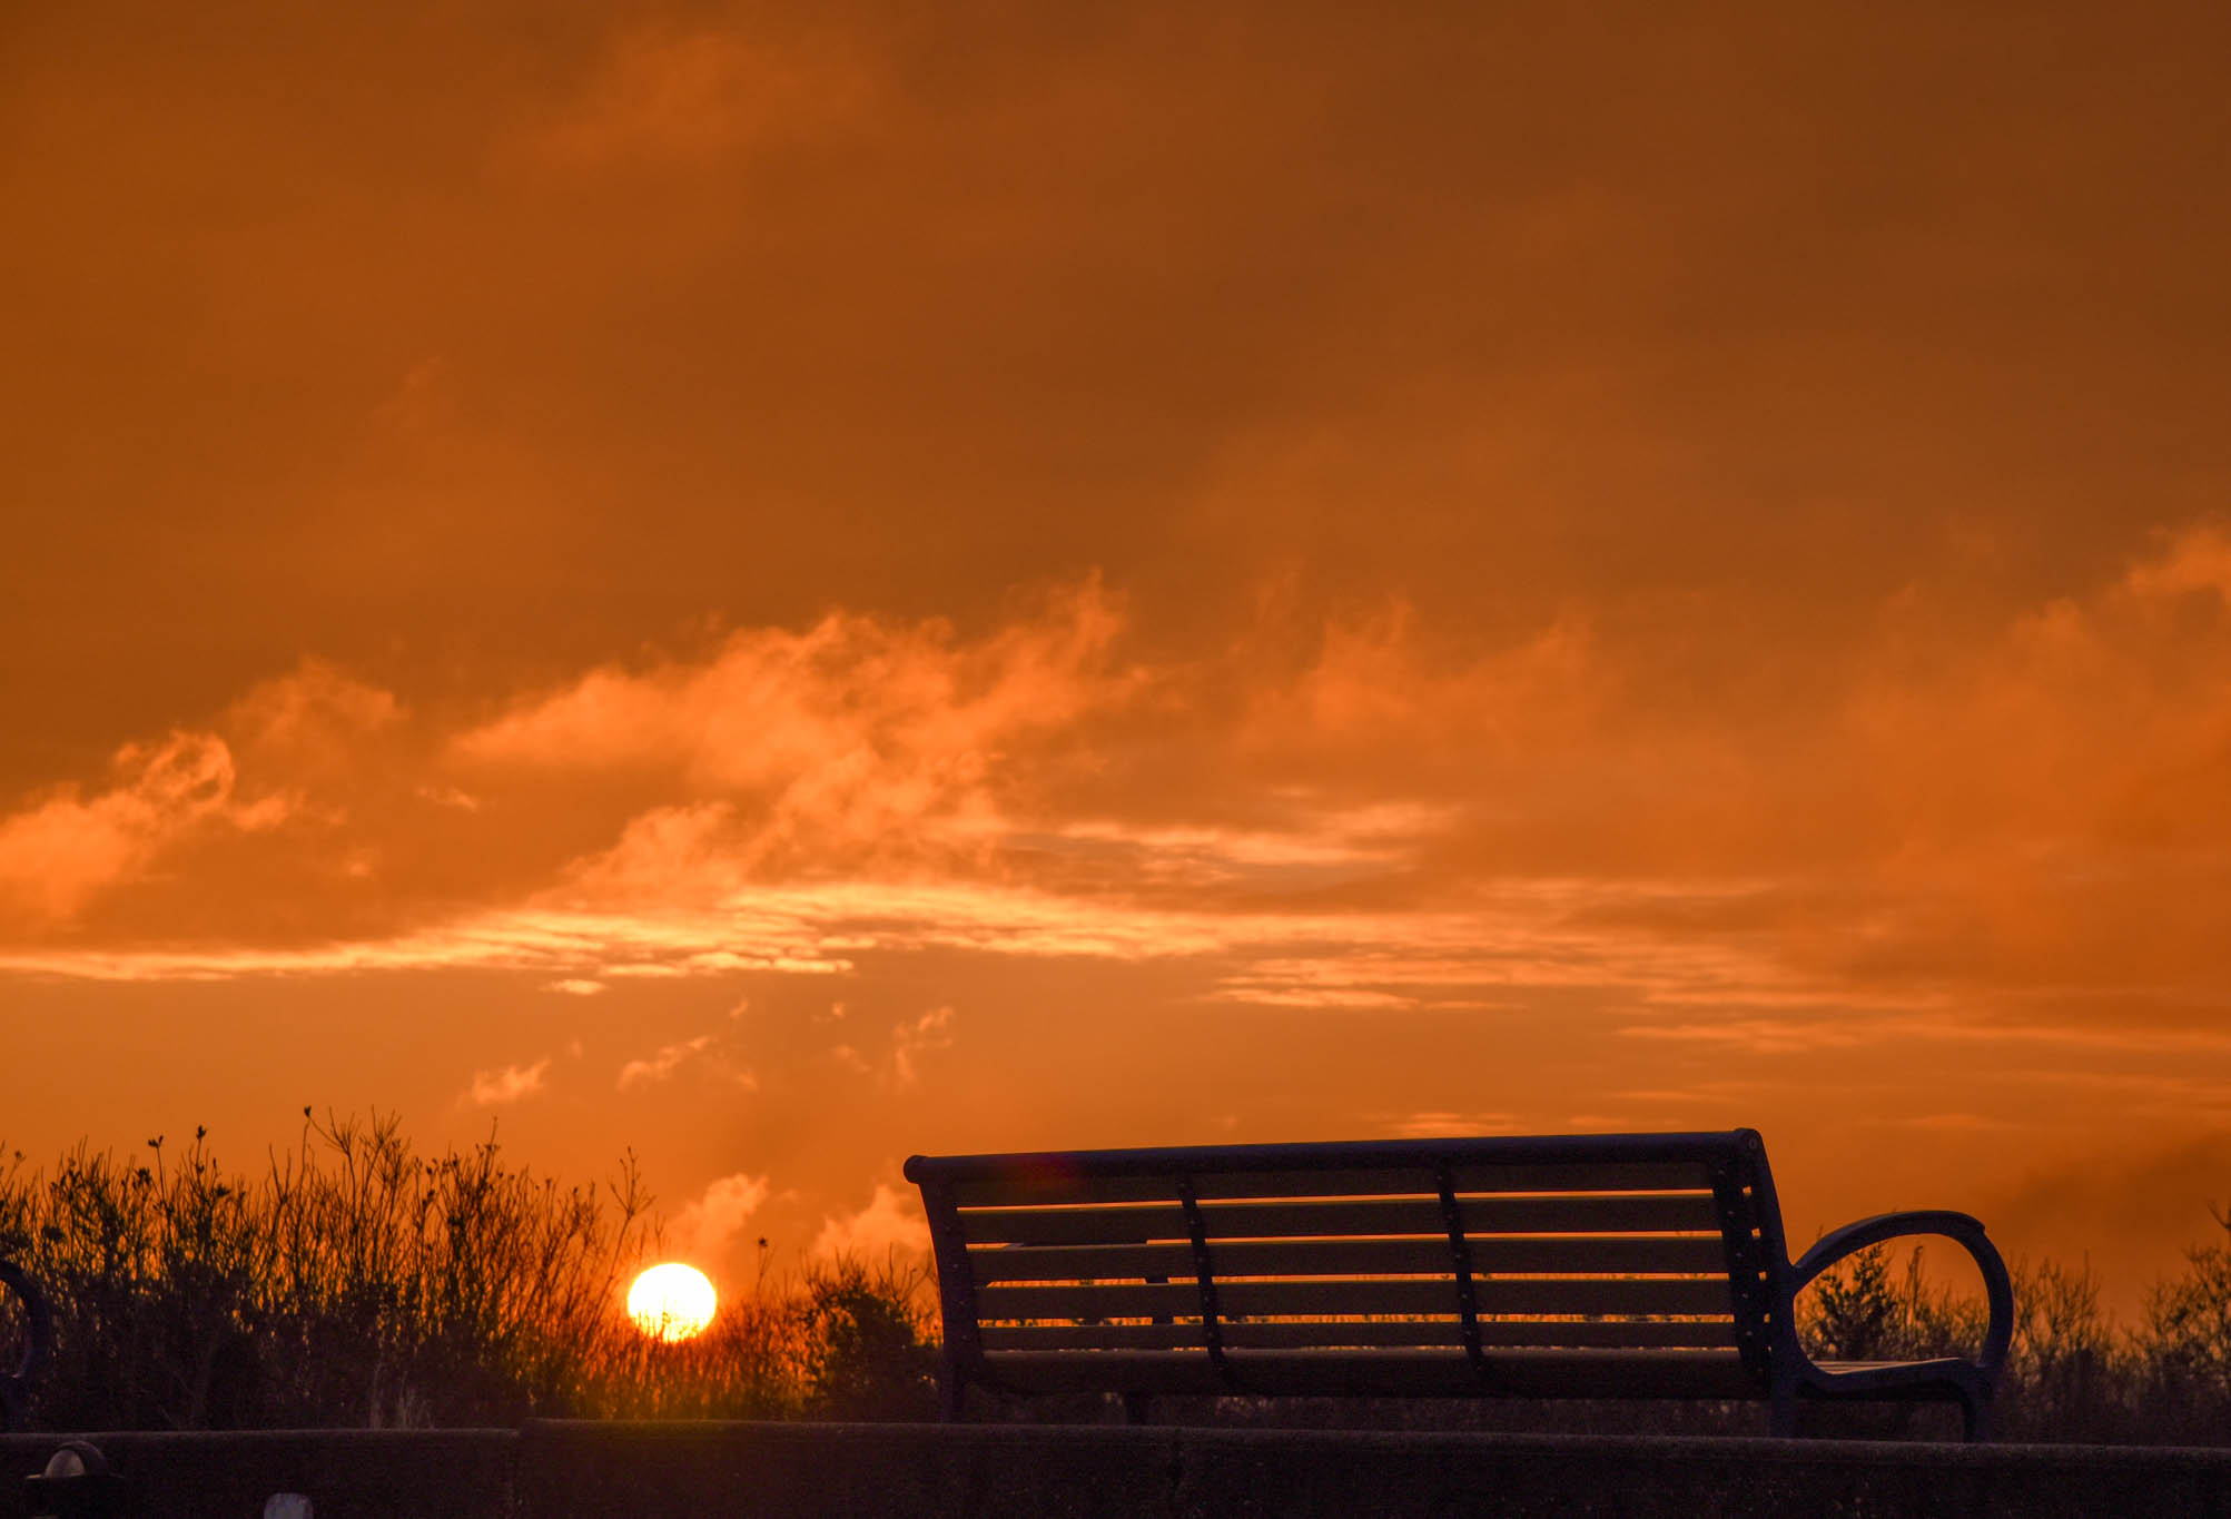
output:
[[[455,752],[484,772],[654,774],[687,794],[573,865],[593,897],[970,859],[1004,799],[1035,783],[1017,752],[1136,696],[1140,674],[1111,658],[1118,631],[1091,580],[977,640],[841,613],[736,631],[703,662],[591,671]]]

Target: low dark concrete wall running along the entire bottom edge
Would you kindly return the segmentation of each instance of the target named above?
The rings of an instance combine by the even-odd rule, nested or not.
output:
[[[1446,1519],[2231,1515],[2231,1450],[1046,1425],[531,1423],[107,1434],[132,1515]],[[0,1439],[0,1519],[54,1436]]]

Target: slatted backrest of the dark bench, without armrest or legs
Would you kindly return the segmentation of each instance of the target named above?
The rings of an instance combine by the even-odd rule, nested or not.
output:
[[[1189,1361],[1240,1385],[1265,1352],[1312,1352],[1336,1390],[1372,1363],[1486,1374],[1513,1349],[1693,1352],[1769,1378],[1785,1256],[1747,1129],[917,1155],[906,1175],[964,1381],[1078,1385],[1033,1372],[1109,1352],[1091,1358],[1160,1367],[1133,1385],[1180,1385]]]

